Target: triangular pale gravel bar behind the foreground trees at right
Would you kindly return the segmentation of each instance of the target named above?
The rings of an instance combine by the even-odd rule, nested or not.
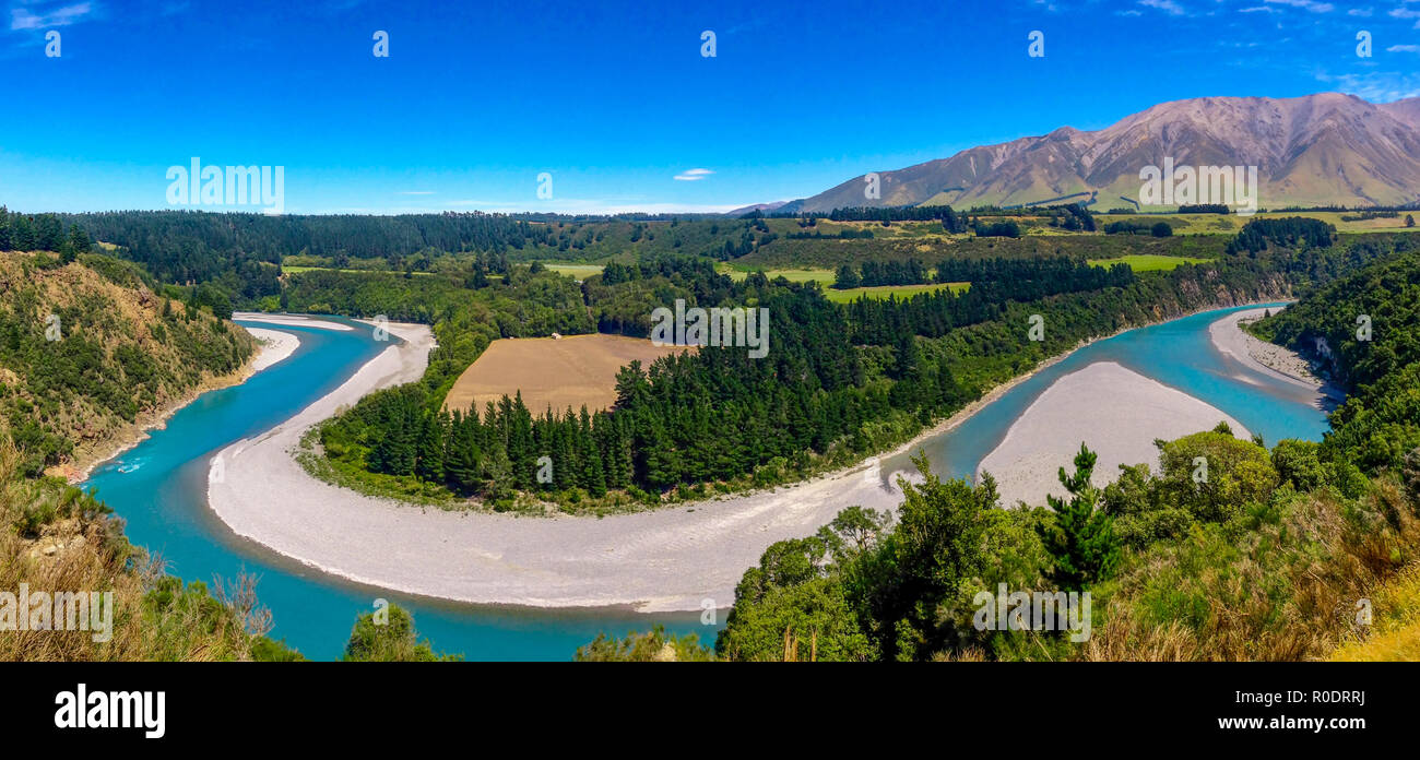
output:
[[[1238,438],[1251,435],[1210,403],[1115,362],[1096,362],[1051,384],[978,472],[995,476],[1003,504],[1042,506],[1048,493],[1065,494],[1058,472],[1074,472],[1081,442],[1099,455],[1091,482],[1103,487],[1119,477],[1119,465],[1149,463],[1157,472],[1154,439],[1210,430],[1218,422]]]

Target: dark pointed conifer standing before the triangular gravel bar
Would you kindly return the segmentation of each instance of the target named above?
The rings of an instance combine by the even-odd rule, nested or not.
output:
[[[1039,531],[1045,548],[1055,557],[1051,577],[1062,591],[1079,591],[1105,580],[1119,564],[1115,521],[1096,509],[1100,492],[1089,482],[1096,459],[1095,452],[1081,443],[1075,455],[1075,474],[1065,474],[1065,467],[1059,470],[1061,484],[1071,499],[1045,497],[1055,511],[1055,521]]]

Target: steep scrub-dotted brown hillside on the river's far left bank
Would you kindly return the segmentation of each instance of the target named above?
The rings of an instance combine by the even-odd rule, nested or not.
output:
[[[27,474],[81,473],[195,395],[241,379],[256,348],[240,327],[153,293],[129,264],[0,253],[0,435]]]

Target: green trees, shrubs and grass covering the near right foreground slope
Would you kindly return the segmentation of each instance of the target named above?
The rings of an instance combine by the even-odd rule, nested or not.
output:
[[[578,659],[650,659],[648,642],[727,661],[1413,656],[1420,253],[1390,253],[1261,325],[1288,345],[1331,345],[1319,358],[1350,396],[1322,443],[1268,449],[1220,425],[1157,442],[1157,474],[1123,467],[1098,489],[1085,442],[1051,509],[1000,509],[988,473],[941,480],[919,462],[923,480],[903,482],[895,519],[849,507],[765,550],[713,651],[657,631],[598,638]],[[1358,315],[1372,318],[1370,340]],[[1210,474],[1196,483],[1200,456]],[[1091,592],[1092,635],[983,626],[977,594],[1000,584]],[[1375,601],[1375,619],[1358,599]]]

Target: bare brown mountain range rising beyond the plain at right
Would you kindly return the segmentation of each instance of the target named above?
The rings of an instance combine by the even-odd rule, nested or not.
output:
[[[1044,136],[963,151],[863,176],[785,210],[848,206],[1028,205],[1137,199],[1139,172],[1163,166],[1257,166],[1262,207],[1403,205],[1420,200],[1420,99],[1375,105],[1335,92],[1304,98],[1194,98],[1167,102],[1098,132],[1064,126]],[[1200,199],[1206,200],[1206,199]]]

